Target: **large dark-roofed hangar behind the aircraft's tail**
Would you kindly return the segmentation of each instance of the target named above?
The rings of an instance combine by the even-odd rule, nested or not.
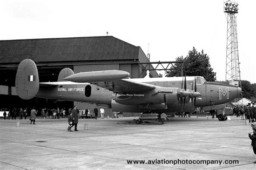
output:
[[[15,77],[19,62],[32,59],[38,67],[39,81],[57,81],[64,67],[75,73],[99,70],[124,70],[131,78],[143,78],[149,59],[140,46],[134,46],[113,36],[19,39],[0,41],[0,97],[1,107],[71,106],[47,99],[24,101],[16,96]],[[150,77],[158,77],[153,66]],[[3,100],[4,99],[4,100]],[[82,107],[84,104],[77,104]],[[80,105],[80,106],[79,106]]]

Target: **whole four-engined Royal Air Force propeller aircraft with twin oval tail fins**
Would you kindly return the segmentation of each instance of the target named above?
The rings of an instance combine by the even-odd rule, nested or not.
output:
[[[129,78],[120,70],[74,72],[65,68],[57,82],[39,83],[37,66],[24,59],[16,74],[16,91],[22,99],[33,97],[83,101],[117,112],[193,112],[196,107],[233,100],[241,88],[207,82],[203,77]]]

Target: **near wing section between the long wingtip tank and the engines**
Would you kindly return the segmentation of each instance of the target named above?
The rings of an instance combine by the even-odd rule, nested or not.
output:
[[[114,81],[99,81],[95,84],[97,86],[103,87],[107,90],[113,91],[114,93],[136,93],[145,92],[156,89],[156,86],[151,84],[142,83],[139,81],[134,81],[132,79],[121,79]]]

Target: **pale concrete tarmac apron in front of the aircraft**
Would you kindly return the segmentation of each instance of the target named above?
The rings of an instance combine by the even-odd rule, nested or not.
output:
[[[0,119],[1,169],[255,169],[245,120],[174,117],[164,125],[134,118]],[[18,126],[19,124],[19,126]],[[84,125],[86,124],[87,127]],[[85,127],[85,128],[84,128]],[[74,127],[73,127],[74,128]],[[74,130],[72,128],[72,130]],[[132,161],[132,162],[128,162]],[[140,161],[140,162],[136,162]],[[143,161],[144,164],[143,164]]]

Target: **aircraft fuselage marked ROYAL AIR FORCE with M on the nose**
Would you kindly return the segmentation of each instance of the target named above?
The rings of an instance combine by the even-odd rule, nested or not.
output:
[[[170,80],[169,80],[170,79]],[[156,81],[154,81],[156,80]],[[159,81],[161,80],[161,81]],[[71,81],[54,82],[55,87],[40,86],[36,97],[58,100],[83,101],[86,103],[105,105],[119,112],[144,112],[147,110],[156,112],[181,112],[181,101],[177,99],[177,87],[183,84],[182,80],[172,78],[135,79],[147,84],[160,86],[161,89],[173,87],[173,93],[159,93],[156,88],[142,93],[116,94],[103,87],[89,83],[73,83]],[[193,82],[187,81],[187,89],[193,89]],[[203,82],[197,84],[197,91],[201,94],[196,98],[196,107],[218,105],[227,103],[237,97],[241,89],[237,86],[220,84],[215,82]],[[184,112],[193,110],[193,100],[185,99]]]

